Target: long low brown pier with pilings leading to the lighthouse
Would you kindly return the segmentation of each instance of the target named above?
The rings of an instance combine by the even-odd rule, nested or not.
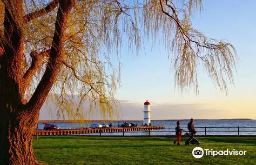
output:
[[[101,132],[132,132],[132,131],[144,131],[144,130],[163,130],[165,126],[134,126],[134,127],[112,127],[112,128],[80,128],[80,129],[60,129],[60,130],[43,130],[38,129],[38,136],[54,136],[54,135],[81,135],[88,133],[101,133]],[[37,135],[37,131],[34,131],[34,136]]]

